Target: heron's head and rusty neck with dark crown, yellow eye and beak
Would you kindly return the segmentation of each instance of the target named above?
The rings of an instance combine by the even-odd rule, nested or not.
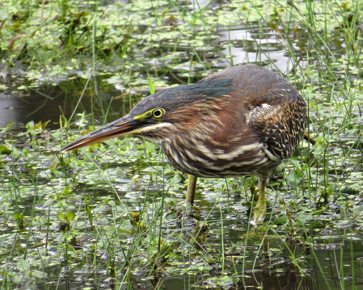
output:
[[[96,129],[62,148],[61,153],[103,140],[134,134],[155,143],[188,134],[196,127],[223,125],[219,114],[233,91],[231,77],[212,75],[195,84],[164,89],[144,98],[128,115]]]

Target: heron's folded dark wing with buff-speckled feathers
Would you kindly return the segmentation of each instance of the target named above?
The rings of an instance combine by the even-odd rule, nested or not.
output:
[[[290,158],[306,126],[306,105],[301,94],[282,76],[264,78],[260,94],[250,94],[248,125],[266,145],[271,159]]]

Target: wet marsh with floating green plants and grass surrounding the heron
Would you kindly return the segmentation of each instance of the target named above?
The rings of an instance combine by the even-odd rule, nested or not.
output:
[[[106,2],[2,3],[1,289],[361,289],[362,2]],[[200,178],[185,208],[150,142],[59,154],[152,87],[243,63],[285,74],[316,140],[257,229],[253,177]]]

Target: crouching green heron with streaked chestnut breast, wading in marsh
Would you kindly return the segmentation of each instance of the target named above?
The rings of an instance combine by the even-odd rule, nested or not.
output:
[[[266,68],[241,65],[151,94],[125,117],[61,152],[126,134],[161,143],[169,163],[189,174],[189,204],[194,202],[198,176],[257,176],[253,220],[260,223],[266,215],[268,175],[291,157],[305,125],[306,104],[293,85]]]

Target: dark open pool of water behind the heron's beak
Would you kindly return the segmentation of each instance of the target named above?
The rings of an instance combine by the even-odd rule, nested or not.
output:
[[[74,110],[76,113],[93,114],[95,119],[102,121],[107,116],[105,122],[113,121],[129,111],[128,97],[114,98],[119,96],[119,91],[96,82],[87,87],[78,103],[84,85],[78,80],[70,80],[26,92],[3,94],[0,96],[0,125],[15,121],[14,128],[19,128],[29,121],[50,121],[49,129],[59,129],[61,116],[68,119]]]

